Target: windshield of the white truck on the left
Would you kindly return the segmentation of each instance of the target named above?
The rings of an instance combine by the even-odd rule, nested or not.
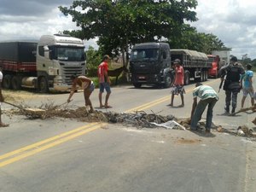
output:
[[[54,47],[53,59],[59,61],[84,61],[84,48]]]

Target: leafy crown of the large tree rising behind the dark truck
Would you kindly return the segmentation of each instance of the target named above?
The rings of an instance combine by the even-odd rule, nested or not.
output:
[[[73,35],[98,37],[103,53],[125,52],[128,57],[133,44],[180,34],[184,20],[197,20],[196,5],[196,0],[84,0],[59,9],[81,27]]]

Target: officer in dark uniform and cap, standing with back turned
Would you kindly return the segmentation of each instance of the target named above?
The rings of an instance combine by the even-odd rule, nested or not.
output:
[[[225,90],[225,107],[224,114],[230,114],[230,105],[232,107],[231,113],[235,113],[237,106],[237,94],[241,90],[240,77],[244,74],[244,69],[241,64],[237,62],[236,56],[230,59],[230,65],[222,67],[220,70],[221,80],[224,79]]]

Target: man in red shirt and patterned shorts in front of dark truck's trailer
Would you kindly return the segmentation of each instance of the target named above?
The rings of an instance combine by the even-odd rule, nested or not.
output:
[[[173,107],[173,100],[174,100],[174,95],[180,94],[182,104],[179,105],[178,107],[183,108],[184,107],[184,96],[183,94],[185,93],[183,84],[184,84],[184,70],[183,67],[181,66],[181,61],[179,59],[176,59],[173,61],[174,64],[174,71],[175,71],[175,80],[174,83],[172,84],[172,98],[171,98],[171,104],[168,106]]]

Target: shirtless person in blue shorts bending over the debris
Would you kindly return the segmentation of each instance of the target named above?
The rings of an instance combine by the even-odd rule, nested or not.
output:
[[[89,106],[90,108],[89,113],[92,113],[94,110],[90,102],[90,94],[95,88],[93,81],[90,80],[89,78],[86,78],[85,76],[76,76],[76,75],[72,75],[70,79],[72,80],[73,84],[72,84],[72,90],[70,91],[67,102],[71,102],[71,97],[73,96],[75,90],[77,90],[77,85],[79,85],[79,87],[81,87],[84,90],[85,107]]]

